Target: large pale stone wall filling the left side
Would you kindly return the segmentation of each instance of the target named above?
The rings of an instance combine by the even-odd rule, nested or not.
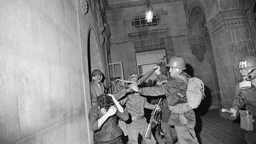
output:
[[[87,55],[92,28],[100,68],[108,75],[100,38],[105,33],[93,2],[0,2],[0,143],[93,143]]]

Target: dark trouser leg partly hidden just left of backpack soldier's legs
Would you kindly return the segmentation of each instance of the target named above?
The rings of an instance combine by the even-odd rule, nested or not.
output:
[[[176,131],[174,127],[171,127],[167,122],[163,122],[163,129],[166,131],[164,137],[165,137],[165,143],[166,144],[173,144],[174,140],[177,138]]]

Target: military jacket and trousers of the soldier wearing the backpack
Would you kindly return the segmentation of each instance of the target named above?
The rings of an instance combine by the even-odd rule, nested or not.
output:
[[[189,77],[186,72],[182,72],[180,75],[183,77]],[[166,80],[166,75],[159,74],[159,80]],[[169,106],[177,106],[178,104],[187,104],[187,83],[179,77],[170,77],[168,82],[160,85],[158,87],[145,87],[139,88],[139,93],[142,95],[148,96],[159,96],[166,95]],[[180,95],[181,94],[181,95]],[[184,112],[184,117],[187,119],[187,125],[189,126],[190,132],[195,135],[195,112],[193,109],[190,109]],[[177,133],[178,142],[189,143],[194,142],[198,143],[197,138],[192,138],[186,126],[182,124],[180,120],[179,113],[171,112],[171,116],[168,121],[169,125],[174,125]]]

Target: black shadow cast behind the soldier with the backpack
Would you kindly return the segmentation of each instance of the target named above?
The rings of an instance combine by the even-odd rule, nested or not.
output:
[[[186,64],[186,70],[184,70],[187,74],[189,74],[191,77],[194,77],[194,69],[189,64]],[[195,111],[195,119],[196,119],[196,125],[195,125],[195,133],[197,135],[197,139],[199,143],[202,143],[202,140],[199,136],[199,133],[202,131],[202,119],[201,116],[207,114],[209,108],[211,106],[211,91],[210,88],[205,86],[205,98],[201,101],[200,105],[197,109],[194,109]]]

